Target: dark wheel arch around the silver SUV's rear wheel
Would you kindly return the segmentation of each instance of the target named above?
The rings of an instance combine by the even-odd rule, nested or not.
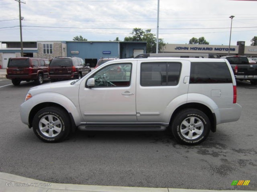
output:
[[[184,109],[188,109],[188,108],[194,108],[194,109],[198,109],[202,112],[204,112],[209,120],[210,120],[210,124],[211,124],[211,131],[212,132],[216,132],[216,116],[215,114],[210,110],[210,108],[208,108],[206,105],[204,104],[201,104],[201,103],[186,103],[186,104],[183,104],[183,105],[180,105],[171,115],[171,118],[170,118],[170,125],[172,124],[172,121],[174,119],[174,117],[176,116],[176,114],[181,111],[181,110],[184,110]]]

